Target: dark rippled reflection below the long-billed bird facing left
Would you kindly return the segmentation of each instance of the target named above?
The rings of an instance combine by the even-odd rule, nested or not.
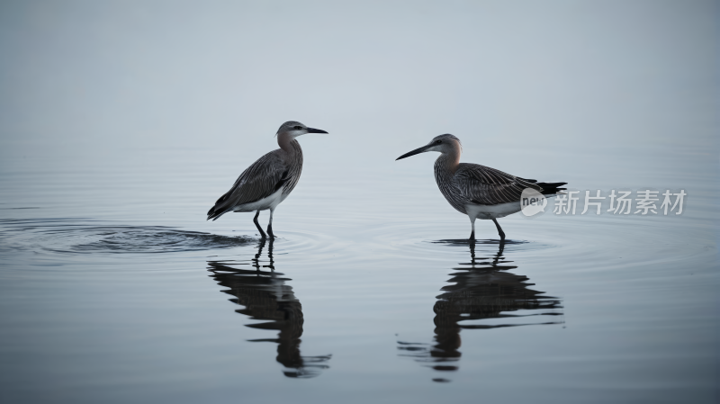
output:
[[[437,243],[470,247],[471,261],[461,263],[450,274],[451,283],[442,288],[433,307],[435,311],[435,342],[420,344],[398,341],[401,355],[413,357],[436,371],[458,370],[462,355],[462,329],[506,328],[540,324],[562,324],[562,301],[545,292],[529,289],[527,276],[512,274],[517,269],[503,256],[506,245],[522,244],[511,240],[441,240]],[[498,245],[493,256],[475,256],[478,245]],[[522,313],[512,314],[513,311]],[[445,378],[435,382],[449,382]]]

